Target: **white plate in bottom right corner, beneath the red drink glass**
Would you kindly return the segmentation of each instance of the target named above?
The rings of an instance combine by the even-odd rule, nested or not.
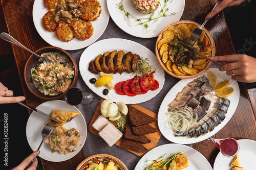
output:
[[[244,169],[255,169],[256,160],[256,141],[241,139],[238,140],[239,153],[238,156]],[[221,152],[217,155],[214,162],[214,170],[231,170],[230,164],[232,158],[225,157]]]

